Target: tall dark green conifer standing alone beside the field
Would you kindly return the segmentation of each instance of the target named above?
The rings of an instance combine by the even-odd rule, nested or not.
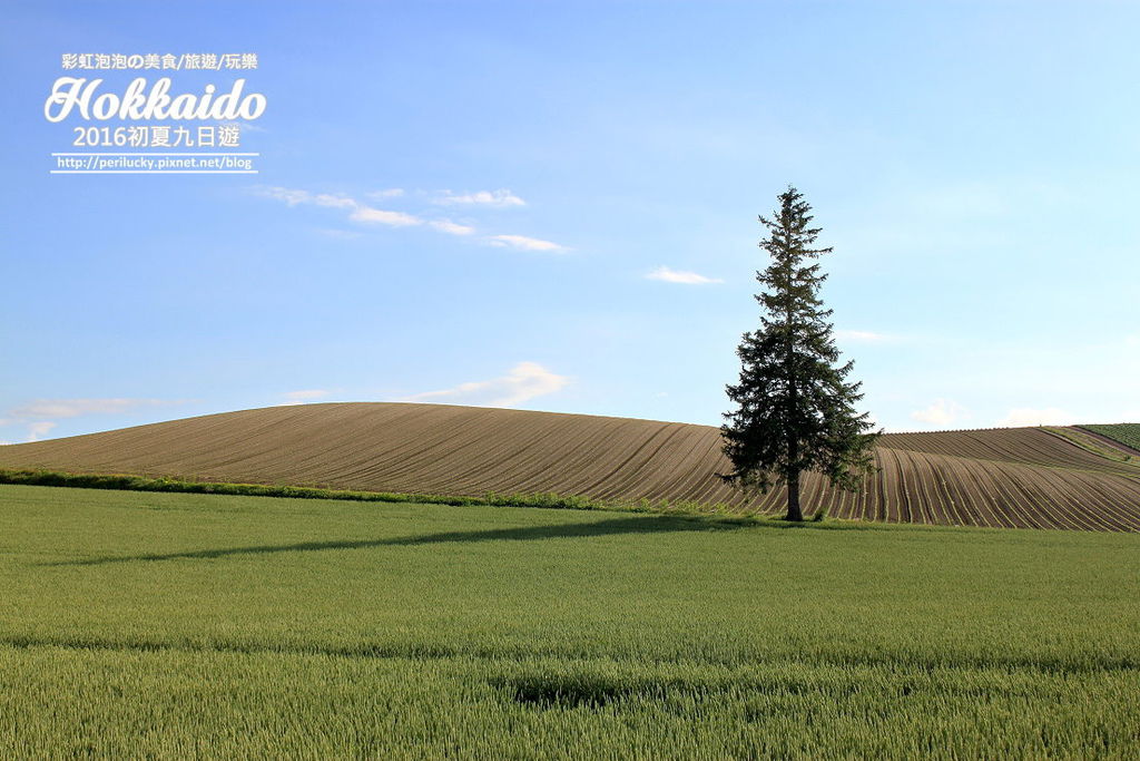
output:
[[[813,249],[820,228],[811,227],[811,207],[790,187],[781,193],[772,219],[760,217],[767,237],[760,248],[772,262],[756,280],[764,289],[760,329],[744,333],[740,382],[728,386],[738,408],[725,413],[724,453],[733,471],[725,480],[746,491],[788,486],[788,520],[803,520],[800,473],[815,470],[840,488],[856,491],[874,471],[872,446],[879,434],[868,413],[857,413],[862,383],[846,382],[853,362],[839,365],[820,300],[826,278],[815,260],[831,249]],[[821,505],[821,509],[823,507]]]

